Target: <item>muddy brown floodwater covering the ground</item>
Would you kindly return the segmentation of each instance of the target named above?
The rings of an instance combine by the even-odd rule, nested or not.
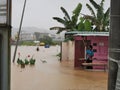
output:
[[[107,90],[107,72],[74,69],[72,62],[61,62],[59,47],[20,46],[21,58],[34,55],[35,66],[21,68],[11,63],[11,90]],[[14,47],[11,47],[11,60]],[[18,55],[16,55],[16,58]],[[45,60],[43,63],[41,60]]]

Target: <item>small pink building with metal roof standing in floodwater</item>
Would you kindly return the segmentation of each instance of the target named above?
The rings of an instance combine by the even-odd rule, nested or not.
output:
[[[66,44],[67,51],[62,50],[64,58],[67,57],[69,59],[69,56],[73,58],[74,60],[74,67],[80,67],[83,63],[83,59],[86,58],[86,47],[88,45],[93,46],[94,51],[94,60],[93,62],[100,61],[100,62],[107,62],[108,61],[108,37],[109,32],[79,32],[79,31],[73,31],[73,32],[67,32],[65,35],[73,35],[74,41],[71,45]],[[67,42],[68,43],[68,42]],[[69,50],[73,50],[71,52],[68,52]],[[67,52],[67,53],[66,53]],[[64,60],[62,58],[62,60]],[[67,59],[66,58],[66,59]],[[97,68],[97,67],[94,67]],[[99,67],[100,68],[100,67]]]

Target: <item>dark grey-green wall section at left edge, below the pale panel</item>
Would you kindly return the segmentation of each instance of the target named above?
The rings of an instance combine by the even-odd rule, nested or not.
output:
[[[10,32],[0,28],[0,90],[10,90]]]

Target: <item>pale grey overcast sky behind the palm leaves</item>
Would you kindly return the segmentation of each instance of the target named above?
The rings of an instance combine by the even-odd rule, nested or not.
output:
[[[95,0],[100,3],[101,0]],[[12,27],[18,28],[24,0],[12,0]],[[49,29],[60,25],[52,17],[63,17],[60,7],[64,7],[68,13],[75,9],[78,3],[82,3],[82,13],[90,13],[85,4],[89,0],[27,0],[22,27],[38,27]],[[110,7],[110,0],[105,0],[105,9]]]

